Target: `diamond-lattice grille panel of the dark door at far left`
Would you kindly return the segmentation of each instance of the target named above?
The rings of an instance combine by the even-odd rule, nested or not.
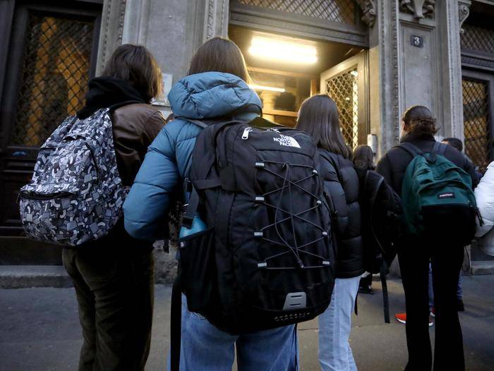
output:
[[[94,23],[29,15],[11,143],[37,147],[84,102]]]

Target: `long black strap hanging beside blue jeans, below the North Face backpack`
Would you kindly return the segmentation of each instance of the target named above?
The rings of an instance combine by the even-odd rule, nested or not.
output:
[[[170,314],[170,365],[171,371],[180,369],[180,348],[182,331],[182,291],[181,275],[176,279],[171,288],[171,314]],[[167,357],[164,358],[165,360]],[[166,366],[165,366],[166,368]]]

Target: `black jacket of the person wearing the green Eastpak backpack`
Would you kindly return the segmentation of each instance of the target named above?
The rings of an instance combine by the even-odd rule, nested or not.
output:
[[[427,152],[432,150],[435,139],[433,135],[416,135],[409,133],[404,135],[401,142],[410,142],[420,148],[423,152]],[[478,177],[475,172],[474,164],[469,162],[462,152],[459,152],[456,148],[450,145],[441,145],[446,146],[445,157],[459,168],[464,169],[464,171],[471,176],[472,184],[476,187]],[[394,147],[387,151],[378,162],[376,170],[379,174],[384,176],[387,183],[394,189],[394,192],[400,196],[402,195],[403,176],[406,167],[410,164],[412,159],[413,157],[409,152],[406,152],[403,148]]]

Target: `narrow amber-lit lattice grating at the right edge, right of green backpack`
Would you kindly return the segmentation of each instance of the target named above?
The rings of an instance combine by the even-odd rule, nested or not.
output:
[[[465,153],[482,171],[490,162],[488,83],[462,78]]]

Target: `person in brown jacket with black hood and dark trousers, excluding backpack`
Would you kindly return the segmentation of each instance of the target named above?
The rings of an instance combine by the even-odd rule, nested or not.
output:
[[[160,94],[161,71],[145,47],[122,45],[102,76],[89,82],[78,118],[111,112],[117,167],[132,185],[147,147],[164,126],[149,103]],[[144,370],[151,341],[154,302],[152,243],[126,233],[123,218],[107,236],[64,249],[83,328],[79,370]]]

